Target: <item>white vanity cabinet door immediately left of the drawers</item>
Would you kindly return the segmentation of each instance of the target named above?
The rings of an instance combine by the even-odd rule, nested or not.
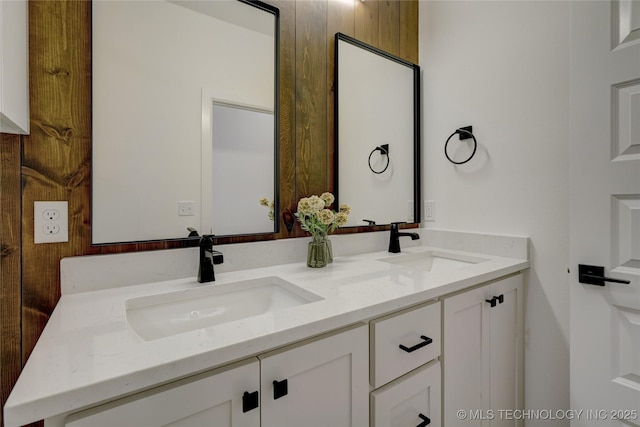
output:
[[[263,427],[369,424],[368,328],[260,356]]]

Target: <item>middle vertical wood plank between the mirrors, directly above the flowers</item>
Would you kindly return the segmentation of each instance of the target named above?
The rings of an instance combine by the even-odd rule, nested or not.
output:
[[[296,3],[296,197],[327,190],[327,3]]]

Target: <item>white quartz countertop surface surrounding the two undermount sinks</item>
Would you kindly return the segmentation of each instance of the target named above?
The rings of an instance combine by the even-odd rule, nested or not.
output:
[[[440,249],[338,257],[320,269],[293,263],[216,273],[208,284],[189,278],[63,295],[5,405],[5,425],[86,408],[529,267],[526,259],[451,249],[442,251],[486,261],[431,273],[379,261],[429,250]],[[323,299],[151,341],[127,323],[130,298],[267,276]]]

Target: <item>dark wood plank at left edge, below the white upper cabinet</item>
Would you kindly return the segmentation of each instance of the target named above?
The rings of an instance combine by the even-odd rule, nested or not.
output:
[[[22,370],[20,144],[19,135],[0,134],[0,407]]]

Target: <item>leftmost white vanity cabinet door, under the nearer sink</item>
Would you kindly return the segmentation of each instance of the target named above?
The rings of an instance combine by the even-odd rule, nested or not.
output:
[[[259,378],[251,359],[74,414],[65,426],[259,427],[259,407],[243,412],[243,395],[258,391]]]

